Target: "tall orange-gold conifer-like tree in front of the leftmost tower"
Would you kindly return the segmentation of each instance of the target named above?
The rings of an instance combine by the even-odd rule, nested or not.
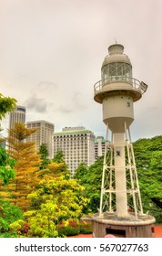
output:
[[[15,127],[8,130],[8,153],[15,159],[15,180],[4,187],[10,192],[9,199],[23,210],[29,208],[28,194],[38,184],[38,169],[40,157],[35,152],[35,143],[25,142],[25,139],[35,133],[35,129],[27,129],[25,124],[15,123]]]

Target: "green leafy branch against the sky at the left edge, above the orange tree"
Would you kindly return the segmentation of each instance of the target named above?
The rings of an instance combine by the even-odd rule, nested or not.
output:
[[[11,112],[16,108],[16,100],[10,97],[4,97],[0,93],[0,120],[5,117],[7,112]]]

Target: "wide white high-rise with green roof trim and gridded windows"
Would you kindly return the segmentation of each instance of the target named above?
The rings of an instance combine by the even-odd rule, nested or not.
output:
[[[83,126],[65,127],[54,133],[54,155],[63,151],[71,176],[80,163],[92,165],[95,162],[95,135]]]

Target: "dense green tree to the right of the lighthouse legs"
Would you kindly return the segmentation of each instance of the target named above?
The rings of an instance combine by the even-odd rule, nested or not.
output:
[[[134,150],[143,208],[162,222],[162,136],[137,140]]]

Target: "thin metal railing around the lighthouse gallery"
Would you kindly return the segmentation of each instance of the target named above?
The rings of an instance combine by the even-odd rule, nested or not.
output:
[[[104,80],[98,80],[94,85],[94,92],[95,95],[99,92],[104,91],[104,87],[109,83],[116,83],[116,82],[126,82],[132,86],[133,91],[139,91],[140,93],[144,93],[145,90],[141,86],[141,82],[134,78],[126,77],[126,76],[112,76],[108,77]]]

